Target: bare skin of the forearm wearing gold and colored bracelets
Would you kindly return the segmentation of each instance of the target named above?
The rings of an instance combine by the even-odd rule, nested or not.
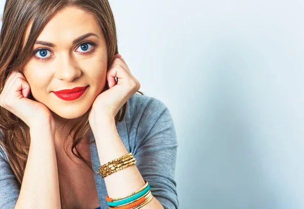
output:
[[[100,164],[103,165],[113,159],[128,154],[128,150],[124,146],[116,129],[115,121],[108,119],[99,121],[93,130]],[[101,177],[100,177],[101,178]],[[111,198],[119,198],[126,196],[144,186],[145,182],[137,169],[136,165],[128,166],[122,170],[112,173],[104,178],[108,196]],[[164,208],[161,203],[153,197],[153,199],[142,209]]]

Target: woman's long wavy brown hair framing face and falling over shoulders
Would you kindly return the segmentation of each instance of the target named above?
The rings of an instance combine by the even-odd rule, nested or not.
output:
[[[67,6],[78,7],[95,16],[105,37],[107,66],[110,66],[112,57],[118,53],[118,43],[115,21],[107,0],[7,0],[0,32],[1,91],[12,71],[17,70],[22,73],[22,68],[31,57],[34,42],[50,18]],[[26,34],[30,22],[32,22],[32,26],[27,38],[25,36],[20,38],[20,34]],[[143,95],[140,91],[138,92]],[[31,94],[28,98],[34,99]],[[88,162],[77,149],[77,145],[91,130],[88,120],[91,108],[73,125],[68,135],[72,136],[71,152],[73,155],[83,160],[94,172],[91,162]],[[126,109],[127,102],[116,115],[116,124],[124,119]],[[3,134],[3,141],[0,140],[0,145],[7,153],[11,169],[21,187],[30,146],[29,127],[20,118],[0,107],[0,128]],[[66,150],[65,152],[67,153]],[[62,187],[63,177],[61,178],[60,174],[58,169],[61,206],[66,207]]]

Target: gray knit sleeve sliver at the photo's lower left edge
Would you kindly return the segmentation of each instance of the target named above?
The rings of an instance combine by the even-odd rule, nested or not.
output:
[[[14,208],[20,193],[7,155],[0,145],[0,208]]]

